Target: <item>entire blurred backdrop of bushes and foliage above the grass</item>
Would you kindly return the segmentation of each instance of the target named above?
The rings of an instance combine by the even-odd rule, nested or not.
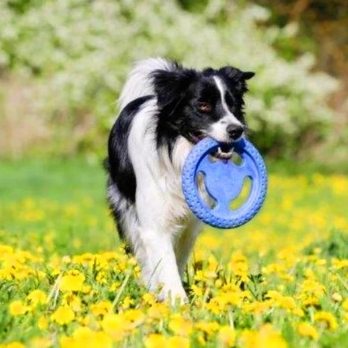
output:
[[[346,0],[1,0],[0,14],[2,160],[99,163],[131,64],[164,56],[256,72],[247,119],[271,166],[347,171]]]

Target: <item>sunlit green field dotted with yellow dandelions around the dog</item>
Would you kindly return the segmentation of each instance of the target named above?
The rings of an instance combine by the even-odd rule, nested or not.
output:
[[[0,165],[1,348],[347,347],[347,176],[270,174],[253,221],[202,233],[174,307],[141,285],[104,179],[80,161]]]

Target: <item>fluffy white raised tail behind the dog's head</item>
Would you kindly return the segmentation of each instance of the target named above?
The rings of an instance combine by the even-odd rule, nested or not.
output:
[[[151,80],[151,73],[155,70],[174,70],[177,63],[167,61],[163,58],[149,58],[135,64],[130,71],[126,83],[118,99],[120,110],[131,101],[145,95],[155,93]]]

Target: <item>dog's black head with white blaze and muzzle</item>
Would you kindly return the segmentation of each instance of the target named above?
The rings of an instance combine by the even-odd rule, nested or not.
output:
[[[246,81],[253,76],[231,66],[202,72],[179,67],[155,71],[162,122],[193,143],[207,136],[218,142],[238,140],[246,127]]]

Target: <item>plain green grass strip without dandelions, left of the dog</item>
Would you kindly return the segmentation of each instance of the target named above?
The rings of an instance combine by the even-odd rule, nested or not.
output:
[[[31,196],[73,200],[78,194],[104,200],[105,173],[102,164],[88,164],[84,159],[0,162],[1,199]]]

